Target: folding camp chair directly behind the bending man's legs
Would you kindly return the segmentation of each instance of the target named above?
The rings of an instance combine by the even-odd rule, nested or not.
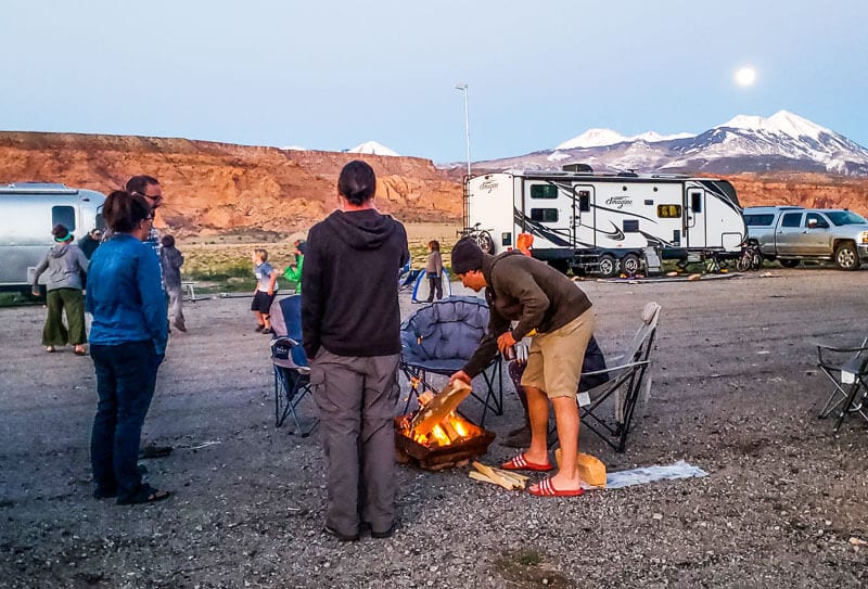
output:
[[[626,446],[639,395],[643,393],[647,397],[651,390],[651,376],[648,375],[646,380],[646,373],[651,363],[651,348],[658,331],[660,309],[656,303],[644,306],[642,325],[633,336],[625,353],[610,358],[616,366],[582,374],[586,379],[609,373],[608,382],[579,393],[576,401],[582,423],[616,452],[623,452]]]

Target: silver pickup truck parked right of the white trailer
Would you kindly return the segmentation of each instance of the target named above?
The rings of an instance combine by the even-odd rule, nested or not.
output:
[[[841,270],[868,261],[868,220],[847,209],[750,206],[742,210],[748,240],[763,258],[795,268],[802,260],[830,260]]]

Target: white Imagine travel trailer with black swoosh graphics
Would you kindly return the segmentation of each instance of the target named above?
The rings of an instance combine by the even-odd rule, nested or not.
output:
[[[526,232],[535,258],[602,276],[635,273],[652,252],[690,261],[733,258],[748,233],[728,181],[631,172],[473,176],[464,185],[464,226],[490,253],[514,247]]]

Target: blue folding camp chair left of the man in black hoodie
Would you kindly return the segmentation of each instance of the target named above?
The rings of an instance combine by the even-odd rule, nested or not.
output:
[[[293,295],[271,304],[271,366],[275,371],[275,427],[280,427],[292,415],[295,432],[307,437],[319,419],[307,428],[296,412],[296,407],[310,390],[310,367],[302,347],[302,295]],[[312,397],[312,396],[311,396]]]

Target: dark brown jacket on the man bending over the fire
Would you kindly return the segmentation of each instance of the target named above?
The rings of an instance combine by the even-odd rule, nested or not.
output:
[[[518,321],[512,336],[520,341],[531,331],[560,329],[590,309],[588,296],[561,272],[521,252],[483,254],[482,273],[488,287],[488,333],[464,366],[470,376],[483,371],[497,354],[497,338]]]

